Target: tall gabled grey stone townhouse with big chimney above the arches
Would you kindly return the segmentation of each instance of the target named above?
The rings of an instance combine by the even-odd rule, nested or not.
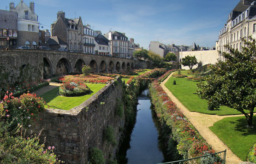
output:
[[[89,25],[83,25],[81,17],[68,19],[65,12],[58,12],[57,20],[51,24],[51,36],[66,42],[70,51],[94,53],[94,32]]]

